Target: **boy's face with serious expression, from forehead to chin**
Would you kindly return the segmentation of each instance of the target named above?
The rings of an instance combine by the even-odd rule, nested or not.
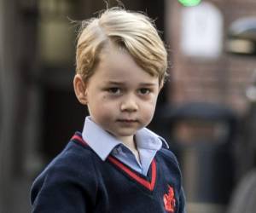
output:
[[[159,78],[135,63],[124,50],[105,49],[94,74],[85,85],[90,116],[120,141],[147,126],[154,115]]]

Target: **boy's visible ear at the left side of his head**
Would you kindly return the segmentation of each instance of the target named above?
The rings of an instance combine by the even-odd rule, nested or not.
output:
[[[73,78],[73,89],[75,95],[79,102],[83,105],[87,104],[87,95],[86,95],[86,84],[80,74],[76,74]]]

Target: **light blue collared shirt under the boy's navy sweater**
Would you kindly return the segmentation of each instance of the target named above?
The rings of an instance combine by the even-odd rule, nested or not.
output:
[[[162,141],[168,147],[166,141],[153,131],[147,128],[138,130],[135,135],[137,151],[140,156],[140,162],[138,162],[129,147],[126,147],[122,141],[103,130],[102,127],[90,119],[90,116],[85,118],[82,136],[84,141],[103,161],[111,153],[115,158],[144,176],[147,176],[154,155],[162,147]]]

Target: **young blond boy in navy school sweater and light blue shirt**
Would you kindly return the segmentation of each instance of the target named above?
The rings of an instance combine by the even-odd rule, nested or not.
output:
[[[74,91],[90,116],[34,181],[32,212],[185,212],[177,160],[145,128],[167,66],[152,21],[106,10],[82,26],[76,61]]]

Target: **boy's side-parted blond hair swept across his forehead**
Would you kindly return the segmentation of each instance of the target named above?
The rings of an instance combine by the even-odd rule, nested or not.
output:
[[[99,18],[84,20],[76,50],[76,72],[86,82],[100,61],[102,49],[113,43],[125,49],[145,72],[166,77],[167,53],[154,22],[148,16],[125,9],[107,9]]]

